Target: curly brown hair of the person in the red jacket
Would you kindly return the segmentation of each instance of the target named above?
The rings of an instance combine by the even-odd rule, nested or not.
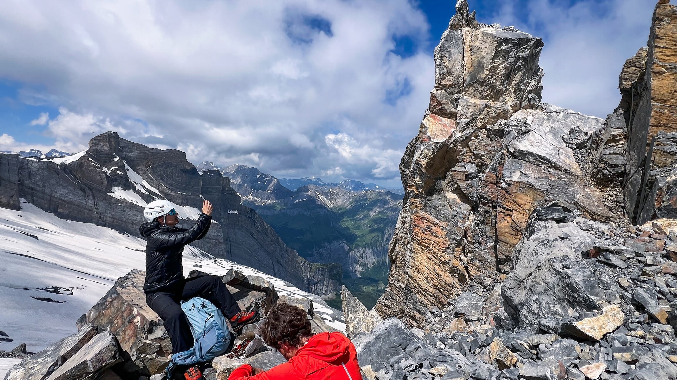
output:
[[[280,348],[282,343],[300,347],[304,338],[313,336],[305,310],[290,304],[273,306],[261,324],[261,337],[268,346]]]

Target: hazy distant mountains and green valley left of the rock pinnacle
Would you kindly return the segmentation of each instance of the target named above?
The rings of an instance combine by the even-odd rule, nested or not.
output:
[[[387,281],[388,245],[403,195],[353,180],[277,179],[244,165],[202,162],[197,169],[221,171],[242,204],[256,210],[286,245],[311,262],[341,264],[347,287],[366,306],[376,302]]]

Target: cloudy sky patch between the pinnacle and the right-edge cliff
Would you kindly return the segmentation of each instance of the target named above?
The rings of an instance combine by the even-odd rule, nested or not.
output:
[[[624,62],[647,45],[655,0],[499,0],[492,22],[544,39],[543,100],[604,118]]]

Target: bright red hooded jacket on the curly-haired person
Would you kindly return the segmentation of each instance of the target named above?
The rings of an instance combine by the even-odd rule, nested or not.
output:
[[[320,333],[308,339],[288,362],[254,375],[244,364],[228,380],[362,380],[353,343],[342,333]]]

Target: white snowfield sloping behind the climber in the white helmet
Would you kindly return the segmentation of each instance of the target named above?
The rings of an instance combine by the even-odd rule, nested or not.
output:
[[[60,219],[24,199],[21,211],[0,208],[0,331],[14,339],[0,339],[0,350],[26,343],[29,352],[37,352],[77,331],[77,318],[118,277],[144,269],[145,247],[143,239]],[[313,300],[315,312],[332,327],[345,330],[341,312],[290,283],[186,247],[183,270],[187,275],[194,268],[214,275],[235,269],[261,276],[280,294]]]

